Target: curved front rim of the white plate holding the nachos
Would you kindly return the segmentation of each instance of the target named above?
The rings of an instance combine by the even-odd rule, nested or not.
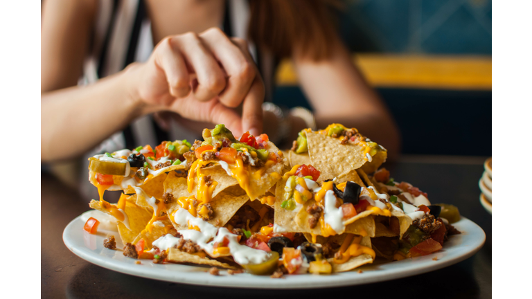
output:
[[[380,273],[379,269],[376,271],[364,271],[366,275],[362,276],[362,274],[357,273],[357,271],[348,271],[343,273],[335,273],[333,275],[290,275],[285,279],[282,280],[273,280],[274,284],[266,284],[263,286],[257,285],[255,282],[255,279],[258,278],[256,275],[249,275],[248,277],[252,277],[253,282],[250,284],[242,284],[240,282],[240,278],[242,276],[238,275],[222,275],[222,276],[214,276],[210,275],[206,271],[201,271],[202,275],[200,279],[194,278],[193,276],[197,276],[197,272],[183,272],[183,271],[170,271],[170,273],[177,273],[181,275],[172,275],[168,276],[168,271],[161,271],[162,268],[167,268],[166,266],[172,266],[172,264],[163,264],[163,265],[152,265],[151,268],[145,268],[140,267],[140,265],[135,265],[133,268],[131,267],[133,264],[122,262],[119,260],[114,260],[111,257],[106,257],[103,255],[100,255],[100,253],[96,253],[95,251],[92,251],[88,248],[86,248],[85,245],[82,245],[81,248],[78,248],[76,244],[74,244],[74,240],[70,239],[68,237],[68,233],[70,231],[73,232],[74,226],[80,226],[78,229],[82,230],[82,224],[79,224],[82,220],[80,220],[80,216],[76,217],[70,223],[64,228],[63,230],[63,242],[69,248],[72,253],[77,255],[78,257],[82,258],[82,260],[86,260],[87,262],[90,262],[91,264],[96,264],[97,266],[102,266],[105,269],[109,269],[112,271],[117,271],[120,273],[125,273],[128,275],[134,275],[142,278],[150,278],[154,280],[163,280],[167,282],[176,282],[176,283],[183,283],[183,284],[192,284],[192,285],[198,285],[198,286],[205,286],[205,287],[225,287],[225,288],[237,288],[237,289],[323,289],[323,288],[330,288],[330,287],[347,287],[347,286],[353,286],[357,284],[369,284],[373,282],[382,282],[382,281],[388,281],[388,280],[394,280],[396,278],[405,278],[412,275],[418,275],[427,273],[429,271],[436,271],[438,269],[445,268],[446,266],[450,266],[452,264],[456,264],[458,262],[461,262],[468,257],[471,257],[477,251],[484,246],[484,243],[486,242],[486,233],[484,230],[478,226],[478,224],[475,224],[475,222],[471,221],[470,219],[466,217],[461,217],[461,220],[457,222],[456,224],[460,224],[459,226],[468,226],[469,228],[465,230],[464,235],[470,235],[471,230],[475,230],[475,233],[480,233],[481,238],[477,240],[477,242],[473,242],[473,244],[469,244],[468,246],[464,246],[468,248],[467,251],[457,254],[456,256],[452,257],[451,259],[445,259],[447,251],[445,251],[445,247],[443,251],[438,251],[438,253],[443,253],[443,260],[440,260],[440,257],[438,257],[438,253],[432,253],[431,255],[425,255],[423,257],[414,257],[414,263],[412,263],[412,260],[402,260],[397,261],[393,263],[402,263],[405,262],[404,268],[400,269],[398,271],[391,271],[391,273]],[[88,235],[88,233],[87,233]],[[98,237],[98,236],[96,236]],[[101,236],[100,236],[101,237]],[[103,237],[102,237],[103,238]],[[463,241],[462,241],[463,243]],[[471,246],[473,245],[473,246]],[[85,249],[85,252],[84,250]],[[447,248],[447,250],[450,248]],[[452,248],[456,249],[456,248]],[[432,258],[436,256],[438,257],[438,262],[432,263],[426,263],[432,260]],[[150,261],[151,264],[151,261]],[[389,263],[384,264],[376,264],[378,266],[381,265],[388,265]],[[420,264],[420,266],[416,266]],[[428,264],[428,266],[427,266]],[[375,265],[375,264],[373,264]],[[139,270],[136,270],[136,266],[139,266]],[[181,265],[175,265],[175,266],[181,266]],[[369,265],[371,266],[371,264]],[[198,269],[198,266],[190,266]],[[156,269],[156,270],[154,270]],[[208,268],[202,268],[202,269],[208,269]],[[148,270],[148,271],[147,271]],[[364,266],[362,266],[362,270],[364,270]],[[384,269],[386,271],[386,269]],[[376,274],[375,274],[376,273]],[[186,276],[190,276],[192,278],[187,278]],[[242,275],[242,274],[240,274]],[[248,274],[245,274],[248,275]],[[357,276],[360,275],[360,276]],[[298,278],[299,277],[299,278]],[[304,281],[305,277],[309,277],[307,282]],[[176,278],[179,278],[177,280]],[[234,279],[237,278],[237,279]],[[264,277],[267,282],[272,282],[272,278],[269,278],[269,276]],[[319,280],[314,280],[314,278],[318,278]],[[353,279],[356,278],[356,279]],[[260,279],[260,278],[259,278]],[[301,280],[301,281],[299,281]],[[312,283],[310,283],[311,280]],[[301,283],[303,282],[303,283]]]

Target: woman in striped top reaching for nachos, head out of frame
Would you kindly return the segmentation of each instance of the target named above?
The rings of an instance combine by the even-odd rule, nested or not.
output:
[[[393,156],[398,130],[351,63],[327,12],[317,0],[44,1],[42,161],[80,156],[124,128],[122,147],[150,135],[169,139],[167,112],[192,130],[204,127],[195,122],[224,123],[236,136],[260,134],[274,62],[284,57],[294,62],[315,112],[280,114],[267,106],[267,133],[293,140],[315,117],[317,127],[357,127]],[[146,28],[151,40],[141,33]],[[150,42],[157,46],[141,57]],[[79,78],[91,84],[77,86]],[[154,113],[155,133],[143,132],[150,120],[139,118]],[[113,150],[104,143],[96,151],[104,148]]]

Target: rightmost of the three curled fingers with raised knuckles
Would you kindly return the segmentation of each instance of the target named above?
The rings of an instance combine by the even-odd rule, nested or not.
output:
[[[205,46],[222,64],[227,73],[227,84],[218,96],[227,107],[238,107],[244,100],[258,71],[251,56],[247,57],[247,45],[242,48],[231,42],[222,30],[211,28],[199,35]],[[240,43],[243,41],[240,40]],[[244,42],[245,43],[245,42]]]

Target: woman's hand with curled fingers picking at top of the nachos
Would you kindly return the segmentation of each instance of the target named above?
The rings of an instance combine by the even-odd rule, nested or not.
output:
[[[235,136],[262,132],[263,81],[247,43],[229,39],[219,28],[166,37],[148,62],[132,64],[126,73],[147,112],[223,123]],[[234,109],[240,105],[242,116]]]

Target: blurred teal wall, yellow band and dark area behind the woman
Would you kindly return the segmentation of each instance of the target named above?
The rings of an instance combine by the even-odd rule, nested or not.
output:
[[[396,118],[402,154],[491,156],[491,1],[345,4],[339,30]],[[276,80],[277,105],[310,109],[290,62]]]

